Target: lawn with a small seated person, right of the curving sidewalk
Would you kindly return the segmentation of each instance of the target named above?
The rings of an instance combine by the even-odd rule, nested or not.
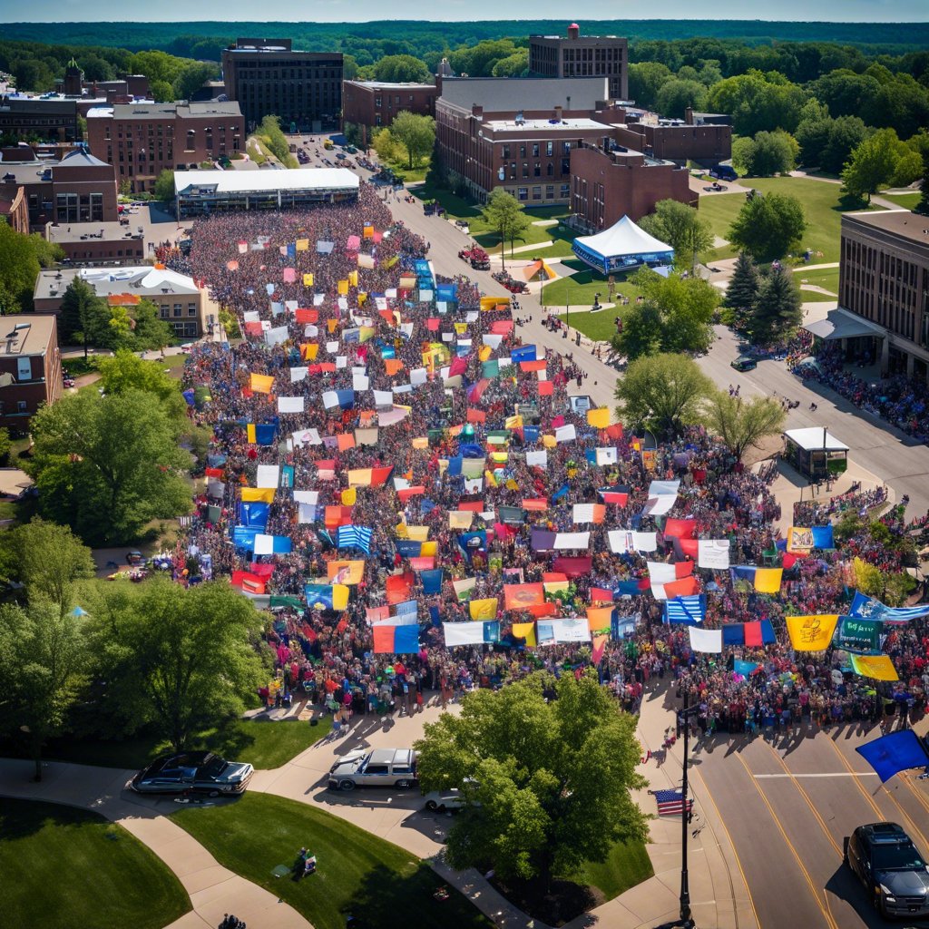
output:
[[[453,888],[436,900],[442,882],[425,862],[314,806],[246,793],[229,804],[184,807],[172,818],[221,865],[280,896],[315,929],[344,929],[348,914],[378,929],[492,925]],[[271,873],[293,865],[303,846],[317,858],[315,874],[295,881]]]

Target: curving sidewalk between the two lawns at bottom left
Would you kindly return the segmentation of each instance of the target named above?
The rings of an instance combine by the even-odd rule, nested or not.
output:
[[[44,765],[32,780],[33,762],[0,759],[0,796],[80,806],[123,826],[177,874],[192,908],[167,929],[215,929],[235,913],[255,929],[312,929],[295,909],[273,894],[223,868],[203,845],[157,808],[164,800],[137,797],[125,789],[135,772],[91,765]]]

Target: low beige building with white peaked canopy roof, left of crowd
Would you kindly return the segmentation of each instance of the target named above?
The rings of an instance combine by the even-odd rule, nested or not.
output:
[[[111,306],[126,307],[130,316],[140,300],[150,300],[158,307],[161,318],[174,327],[178,338],[200,338],[216,321],[216,307],[193,278],[150,265],[39,271],[33,290],[36,313],[58,313],[68,285],[78,276],[98,296],[106,297]]]

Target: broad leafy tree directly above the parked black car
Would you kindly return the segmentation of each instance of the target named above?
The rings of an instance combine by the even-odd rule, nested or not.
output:
[[[110,682],[105,712],[130,731],[153,723],[180,751],[200,729],[241,715],[261,683],[261,614],[226,582],[98,587],[88,607]]]

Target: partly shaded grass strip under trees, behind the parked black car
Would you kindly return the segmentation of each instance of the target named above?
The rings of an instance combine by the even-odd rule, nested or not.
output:
[[[190,746],[209,749],[230,761],[247,761],[256,768],[285,765],[295,755],[322,739],[332,726],[326,716],[319,726],[308,722],[280,723],[235,720],[226,726],[204,730]],[[79,765],[141,768],[159,754],[170,751],[168,743],[154,733],[132,739],[58,739],[46,749],[46,757]]]

